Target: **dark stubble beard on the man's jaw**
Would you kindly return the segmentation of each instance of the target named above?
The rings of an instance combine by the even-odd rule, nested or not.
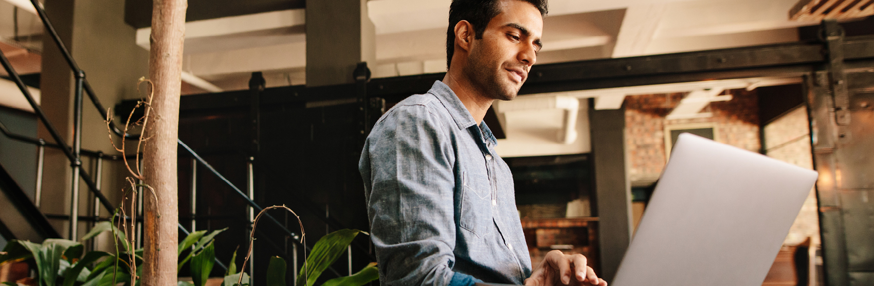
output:
[[[480,49],[473,49],[468,57],[468,78],[483,95],[491,99],[512,101],[519,94],[519,88],[506,81],[503,65],[489,62],[494,59],[483,54]],[[503,79],[503,80],[502,80]]]

